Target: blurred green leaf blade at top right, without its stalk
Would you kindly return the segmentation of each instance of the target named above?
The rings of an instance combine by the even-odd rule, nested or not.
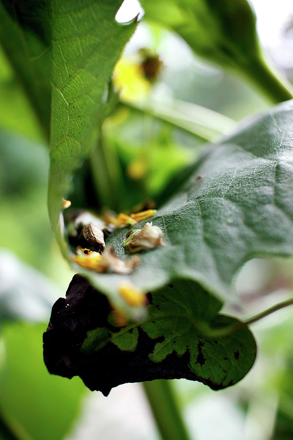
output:
[[[146,19],[177,32],[205,58],[238,68],[259,55],[255,16],[246,0],[146,0]]]

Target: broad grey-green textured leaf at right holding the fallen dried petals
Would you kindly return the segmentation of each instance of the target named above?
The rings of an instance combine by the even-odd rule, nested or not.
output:
[[[188,180],[149,219],[166,246],[140,252],[141,264],[127,276],[132,283],[154,291],[190,279],[224,300],[247,260],[293,254],[292,118],[293,103],[284,103],[204,150]],[[106,240],[122,259],[128,229]],[[83,273],[123,307],[118,286],[125,275]]]

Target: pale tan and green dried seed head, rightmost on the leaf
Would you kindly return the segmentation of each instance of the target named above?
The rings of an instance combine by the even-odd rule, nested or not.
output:
[[[131,232],[131,234],[129,234]],[[154,249],[157,246],[165,246],[163,232],[158,226],[146,223],[143,229],[134,229],[126,235],[123,243],[129,252],[139,252],[142,249]]]

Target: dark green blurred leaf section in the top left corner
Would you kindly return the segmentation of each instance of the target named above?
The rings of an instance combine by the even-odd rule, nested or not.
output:
[[[49,135],[51,103],[51,6],[46,0],[4,0],[0,42]]]

